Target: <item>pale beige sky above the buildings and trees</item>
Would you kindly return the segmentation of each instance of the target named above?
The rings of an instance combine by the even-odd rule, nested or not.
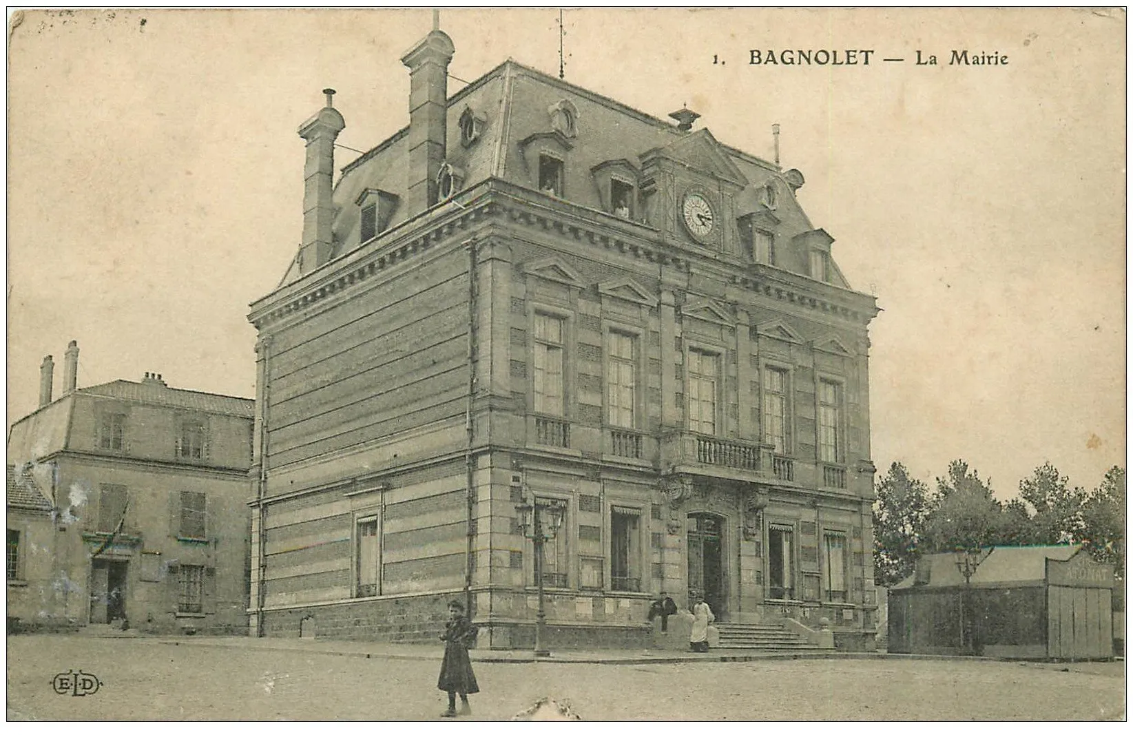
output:
[[[1006,498],[1047,461],[1085,487],[1125,464],[1124,12],[580,9],[563,24],[568,82],[659,118],[688,104],[766,159],[782,126],[802,206],[884,309],[879,476],[900,461],[931,482],[962,458]],[[254,395],[248,304],[301,234],[297,128],[327,86],[347,121],[338,166],[407,125],[400,57],[431,25],[424,9],[9,16],[9,425],[36,408],[45,354],[58,395],[73,339],[79,386],[154,371]],[[557,72],[556,10],[444,10],[441,26],[450,94],[509,57]],[[752,49],[874,53],[772,66]],[[953,50],[1007,63],[949,65]]]

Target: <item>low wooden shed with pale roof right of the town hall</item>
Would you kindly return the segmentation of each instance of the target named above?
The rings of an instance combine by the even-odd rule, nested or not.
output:
[[[1077,546],[931,554],[889,590],[888,650],[994,658],[1114,656],[1114,567]]]

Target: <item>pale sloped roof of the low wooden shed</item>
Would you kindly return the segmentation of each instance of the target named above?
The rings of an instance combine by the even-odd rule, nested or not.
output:
[[[985,549],[979,566],[972,574],[972,586],[1036,584],[1046,580],[1047,559],[1065,562],[1081,550],[1081,546],[994,546]],[[956,566],[956,554],[928,554],[918,559],[919,574],[914,573],[893,587],[963,587],[964,576]],[[925,580],[918,584],[918,576]]]

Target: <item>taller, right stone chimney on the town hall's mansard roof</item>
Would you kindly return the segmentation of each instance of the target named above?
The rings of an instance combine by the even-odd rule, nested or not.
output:
[[[401,57],[401,63],[409,67],[409,216],[436,204],[449,114],[449,62],[453,53],[452,39],[434,27]]]

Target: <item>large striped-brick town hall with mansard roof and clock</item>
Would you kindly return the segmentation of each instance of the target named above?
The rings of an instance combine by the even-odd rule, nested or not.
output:
[[[450,96],[454,52],[402,57],[409,126],[337,180],[334,91],[299,128],[303,243],[249,314],[253,631],[425,638],[463,595],[529,646],[534,497],[553,646],[647,644],[666,590],[870,648],[878,309],[803,176],[513,61]]]

